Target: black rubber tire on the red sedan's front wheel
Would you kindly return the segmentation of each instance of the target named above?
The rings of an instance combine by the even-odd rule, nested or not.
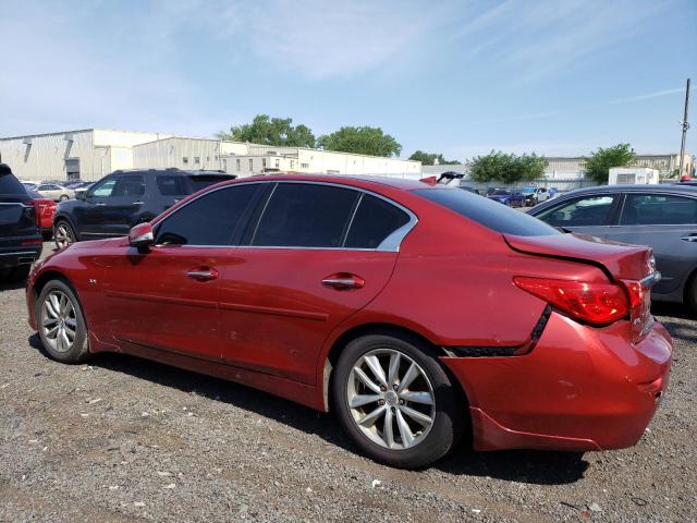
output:
[[[51,300],[50,296],[65,296],[65,299],[70,301],[70,305],[74,312],[74,314],[65,315],[62,321],[64,329],[74,321],[74,329],[72,329],[74,336],[70,346],[58,343],[58,336],[56,337],[56,341],[51,338],[50,330],[52,329],[52,326],[61,324],[61,320],[59,319],[56,321],[56,315],[51,315],[50,312],[52,305],[46,304],[47,300]],[[53,311],[56,309],[53,308]],[[69,324],[69,319],[71,324]],[[89,357],[89,337],[85,315],[83,314],[77,294],[65,281],[51,280],[44,285],[44,289],[41,289],[41,293],[36,301],[36,320],[39,327],[39,338],[41,339],[41,343],[44,344],[46,352],[53,360],[62,363],[82,363]],[[45,326],[47,321],[56,321],[56,324]],[[60,329],[60,327],[58,328]],[[68,339],[70,339],[70,337],[68,337]]]

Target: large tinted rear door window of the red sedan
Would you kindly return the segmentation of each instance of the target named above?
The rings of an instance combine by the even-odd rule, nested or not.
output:
[[[252,245],[341,247],[359,192],[309,183],[279,183]]]

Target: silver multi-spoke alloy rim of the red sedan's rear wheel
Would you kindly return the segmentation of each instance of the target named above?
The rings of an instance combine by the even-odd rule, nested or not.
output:
[[[420,443],[436,418],[428,376],[414,360],[394,349],[376,349],[354,364],[346,400],[358,429],[390,450]]]

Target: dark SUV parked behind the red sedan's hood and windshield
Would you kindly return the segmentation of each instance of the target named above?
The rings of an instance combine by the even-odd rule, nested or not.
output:
[[[98,238],[125,236],[189,194],[235,177],[218,171],[149,169],[114,171],[80,198],[62,202],[53,220],[56,246]]]

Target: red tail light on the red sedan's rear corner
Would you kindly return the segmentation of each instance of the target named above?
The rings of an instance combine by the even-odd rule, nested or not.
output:
[[[627,292],[614,283],[515,277],[519,289],[540,297],[573,317],[608,325],[629,314]]]

